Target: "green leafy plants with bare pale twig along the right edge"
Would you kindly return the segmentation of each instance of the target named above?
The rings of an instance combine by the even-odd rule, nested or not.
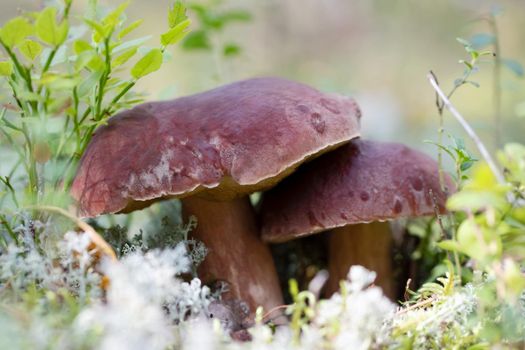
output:
[[[492,20],[495,21],[495,17]],[[499,50],[497,42],[493,40],[497,39],[491,37],[488,42],[494,43],[496,50]],[[481,330],[473,336],[491,344],[502,342],[503,339],[519,342],[525,336],[520,328],[521,316],[518,311],[525,290],[525,276],[521,271],[525,259],[522,238],[525,234],[525,151],[522,145],[509,144],[498,154],[499,165],[496,164],[482,141],[448,100],[459,86],[470,83],[469,77],[477,67],[478,58],[489,54],[478,52],[469,41],[459,41],[465,46],[471,59],[460,61],[466,66],[466,70],[463,77],[456,80],[451,93],[445,95],[440,90],[433,74],[429,76],[429,80],[439,95],[437,106],[440,116],[442,117],[445,107],[450,110],[473,139],[484,161],[474,165],[476,160],[466,151],[464,143],[458,142],[456,138],[452,138],[452,146],[438,144],[440,152],[446,152],[455,162],[459,191],[452,194],[447,202],[447,208],[453,213],[449,215],[453,218],[450,228],[453,234],[437,245],[454,254],[458,272],[460,269],[471,271],[468,281],[476,290],[476,304],[469,322],[477,323]],[[466,176],[464,172],[470,168],[472,172]],[[504,169],[503,172],[501,168]],[[449,276],[453,276],[450,268]],[[457,282],[460,287],[461,280],[457,279]],[[439,286],[433,285],[430,294],[439,299],[439,290],[442,288],[437,287]],[[428,288],[424,286],[422,289],[425,292]],[[421,294],[420,290],[416,295],[419,298]]]

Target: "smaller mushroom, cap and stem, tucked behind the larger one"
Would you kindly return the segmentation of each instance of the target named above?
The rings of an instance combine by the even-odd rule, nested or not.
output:
[[[359,264],[375,270],[377,284],[393,297],[386,220],[443,213],[445,200],[430,157],[401,144],[353,140],[265,193],[262,238],[276,243],[330,230],[325,293],[337,291]]]

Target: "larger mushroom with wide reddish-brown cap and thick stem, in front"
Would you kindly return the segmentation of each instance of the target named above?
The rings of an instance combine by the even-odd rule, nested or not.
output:
[[[248,194],[359,135],[354,100],[279,78],[139,105],[97,130],[72,186],[84,216],[181,198],[209,253],[198,273],[226,281],[251,310],[282,304]]]

